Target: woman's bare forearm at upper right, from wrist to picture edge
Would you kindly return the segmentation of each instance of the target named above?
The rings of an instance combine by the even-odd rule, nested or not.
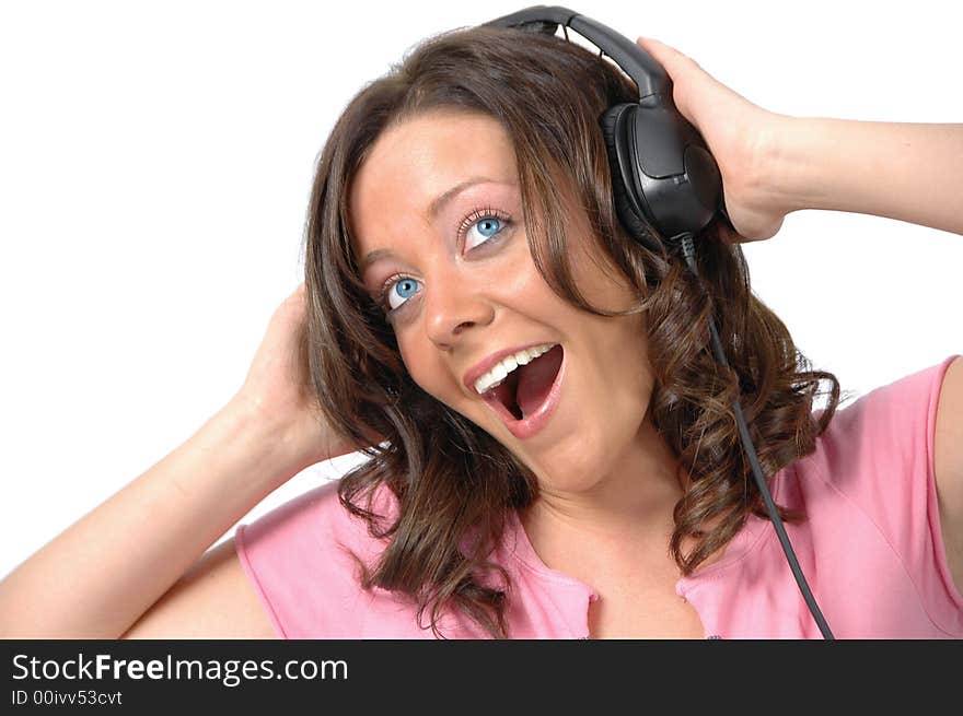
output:
[[[963,234],[963,125],[784,121],[764,184],[787,213],[850,211]]]

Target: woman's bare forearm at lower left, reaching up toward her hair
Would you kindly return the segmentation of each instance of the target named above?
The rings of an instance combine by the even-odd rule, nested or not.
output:
[[[297,472],[229,404],[0,582],[0,637],[116,638]]]

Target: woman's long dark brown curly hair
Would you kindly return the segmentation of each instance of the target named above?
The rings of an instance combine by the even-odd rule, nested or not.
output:
[[[360,279],[351,249],[350,183],[386,129],[439,108],[498,120],[515,151],[529,246],[543,278],[584,310],[623,315],[589,305],[572,281],[558,208],[578,198],[575,206],[585,212],[597,248],[639,296],[627,313],[648,314],[654,377],[649,410],[680,471],[691,478],[675,506],[670,544],[683,574],[727,544],[749,514],[766,517],[733,403],[742,402],[769,479],[813,451],[839,400],[835,376],[811,371],[786,326],[752,293],[741,247],[724,240],[727,224],[716,219],[695,237],[700,281],[677,257],[629,237],[613,207],[599,119],[608,106],[638,98],[634,83],[578,44],[521,32],[479,26],[442,33],[367,84],[324,145],[305,232],[311,385],[325,419],[366,445],[370,458],[341,478],[339,500],[385,541],[375,564],[361,564],[360,580],[364,588],[409,597],[419,624],[429,613],[436,636],[443,636],[438,622],[448,609],[460,610],[483,633],[509,636],[510,579],[488,557],[507,510],[530,505],[538,486],[508,448],[411,379]],[[728,369],[709,343],[710,316]],[[831,390],[816,418],[821,380]],[[371,434],[386,442],[371,446]],[[370,502],[379,486],[397,497],[391,524]],[[687,538],[695,547],[684,553]]]

